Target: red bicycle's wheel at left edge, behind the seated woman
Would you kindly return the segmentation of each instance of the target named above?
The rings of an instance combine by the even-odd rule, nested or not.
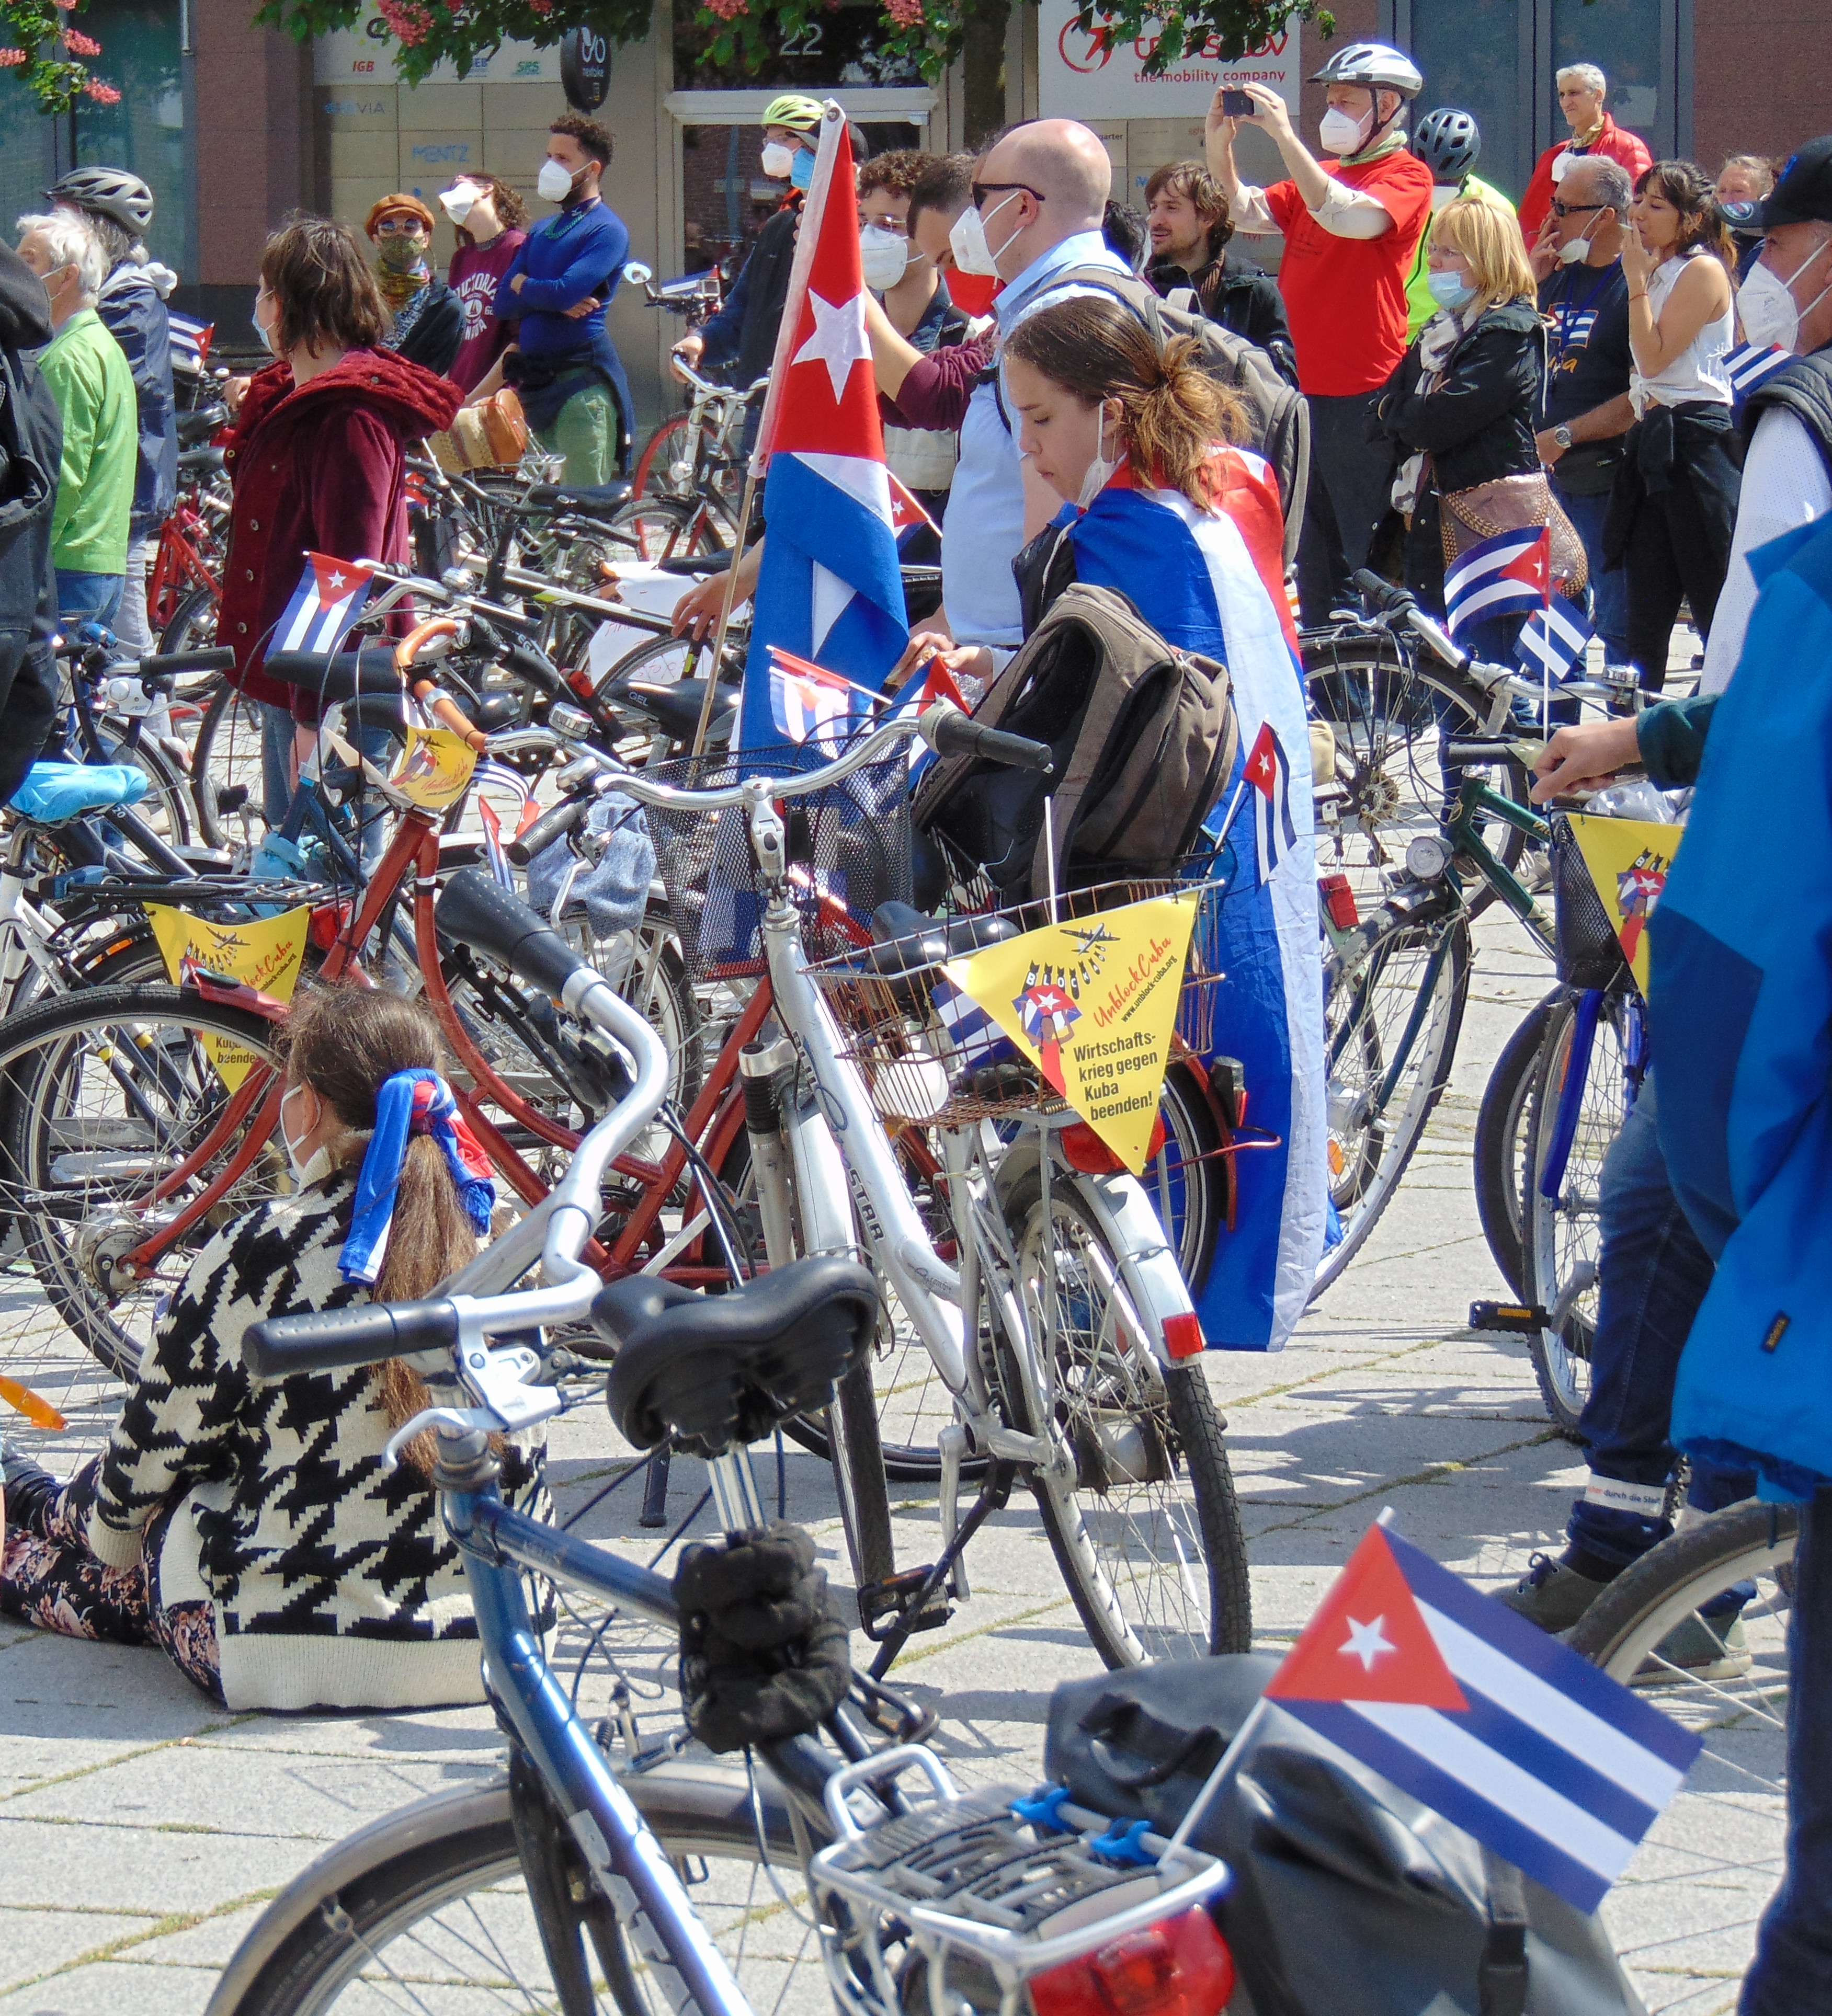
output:
[[[85,1373],[71,1351],[54,1320],[63,1318],[109,1373],[133,1377],[163,1302],[206,1240],[291,1187],[278,1143],[252,1153],[145,1278],[125,1276],[117,1262],[246,1149],[276,1068],[270,1022],[180,988],[83,988],[8,1020],[0,1210],[44,1290],[42,1302],[0,1298],[8,1373],[56,1405],[61,1395],[85,1401],[93,1367]]]

